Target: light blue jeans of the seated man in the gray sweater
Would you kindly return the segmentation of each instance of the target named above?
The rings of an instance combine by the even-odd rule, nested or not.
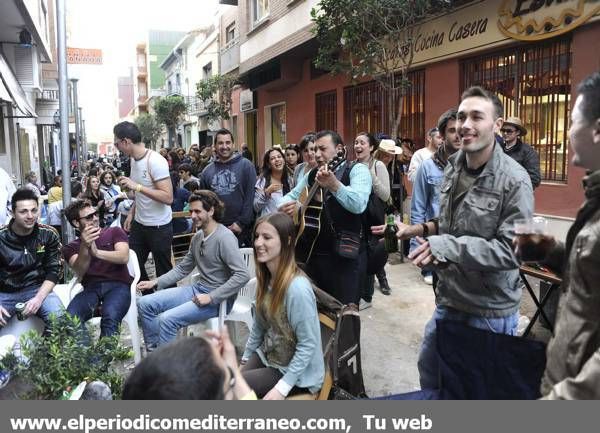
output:
[[[199,307],[192,298],[211,289],[200,284],[172,287],[138,298],[144,341],[148,349],[167,344],[177,337],[177,331],[194,323],[219,315],[219,304]],[[228,309],[234,299],[228,301]]]

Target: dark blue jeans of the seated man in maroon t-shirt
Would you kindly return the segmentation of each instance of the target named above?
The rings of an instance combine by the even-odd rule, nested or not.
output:
[[[82,325],[94,317],[96,308],[102,304],[100,336],[108,337],[119,332],[121,320],[129,311],[131,291],[122,281],[101,281],[86,284],[69,303],[67,312],[79,317]]]

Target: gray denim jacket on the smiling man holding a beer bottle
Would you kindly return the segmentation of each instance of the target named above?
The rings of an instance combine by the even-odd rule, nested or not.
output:
[[[491,159],[452,212],[452,196],[466,164],[449,158],[440,190],[439,235],[429,237],[440,277],[436,303],[483,317],[506,317],[521,300],[514,222],[533,214],[533,189],[519,163],[494,146]]]

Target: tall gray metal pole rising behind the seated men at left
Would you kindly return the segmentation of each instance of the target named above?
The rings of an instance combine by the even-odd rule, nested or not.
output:
[[[63,176],[63,208],[71,202],[71,146],[69,144],[69,79],[67,76],[67,26],[65,0],[56,0],[56,35],[58,57],[58,100],[60,113],[61,168]],[[64,216],[63,245],[73,239],[73,231]]]

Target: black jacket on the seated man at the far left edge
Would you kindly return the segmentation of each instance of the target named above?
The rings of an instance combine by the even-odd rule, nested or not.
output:
[[[56,230],[36,224],[29,236],[17,236],[13,222],[0,228],[0,292],[39,287],[45,280],[58,282],[62,262]]]

